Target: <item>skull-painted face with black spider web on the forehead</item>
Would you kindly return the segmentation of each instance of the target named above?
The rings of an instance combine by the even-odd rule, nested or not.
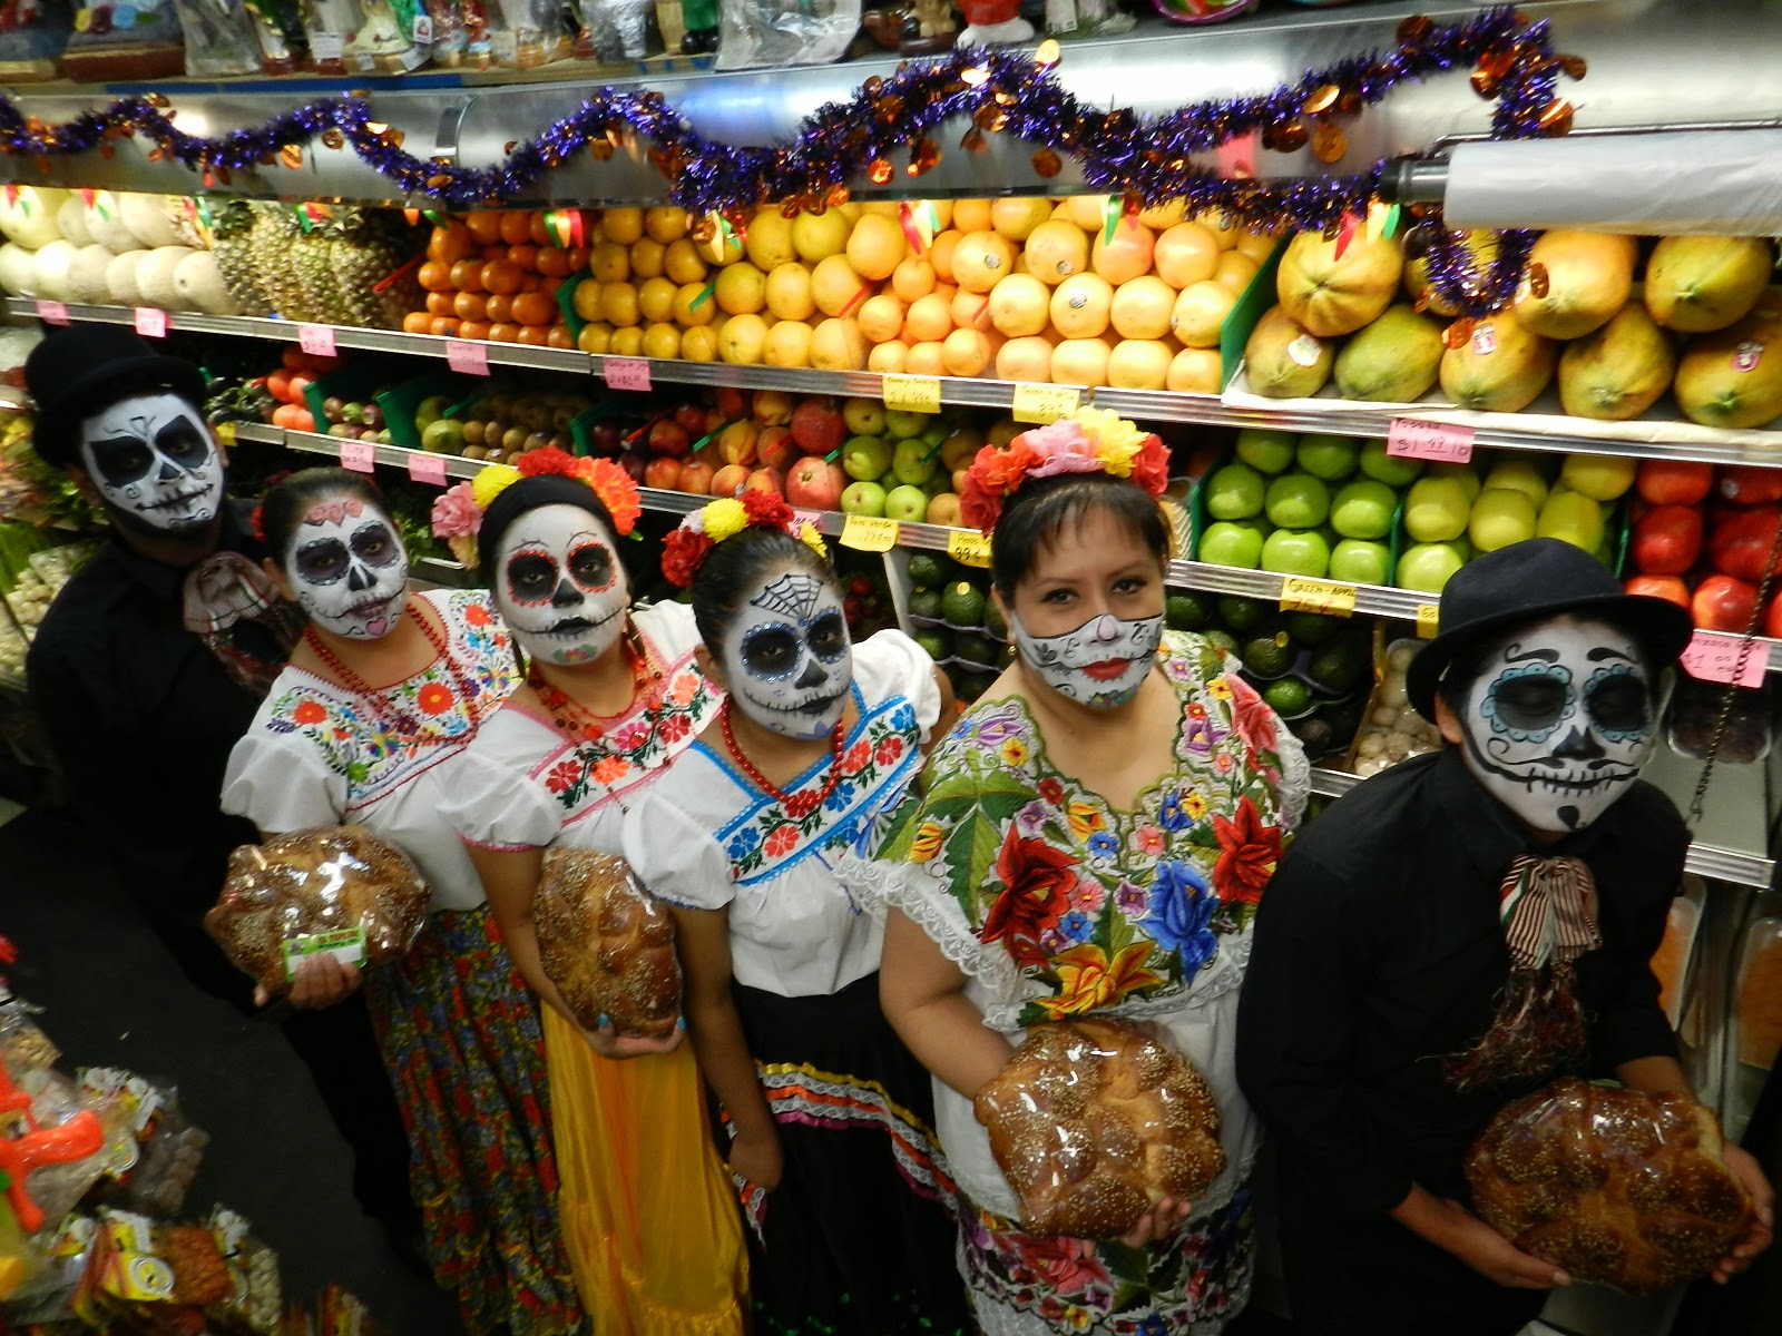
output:
[[[743,604],[723,636],[731,700],[763,729],[825,737],[854,684],[854,645],[841,595],[804,570],[781,570]]]

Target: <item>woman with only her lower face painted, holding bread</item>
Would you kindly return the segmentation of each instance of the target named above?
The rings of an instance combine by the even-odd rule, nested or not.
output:
[[[1233,1071],[1237,985],[1310,773],[1215,647],[1164,632],[1165,472],[1157,436],[1098,410],[980,451],[964,513],[994,527],[1018,657],[936,746],[870,869],[891,903],[886,1015],[936,1078],[987,1336],[1217,1332],[1249,1295],[1260,1129]],[[1085,1101],[1083,1053],[1112,1094],[1124,1078],[1169,1099]],[[1057,1192],[1046,1147],[1121,1120],[1199,1165],[1192,1186],[1103,1160],[1099,1197]]]

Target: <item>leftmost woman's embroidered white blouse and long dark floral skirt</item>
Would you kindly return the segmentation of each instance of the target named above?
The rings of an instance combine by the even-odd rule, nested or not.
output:
[[[486,593],[417,600],[449,663],[369,697],[287,666],[230,755],[223,811],[264,834],[358,823],[421,868],[433,912],[401,962],[365,974],[365,994],[433,1274],[472,1336],[579,1332],[538,1010],[440,816],[469,741],[519,684],[513,648]]]

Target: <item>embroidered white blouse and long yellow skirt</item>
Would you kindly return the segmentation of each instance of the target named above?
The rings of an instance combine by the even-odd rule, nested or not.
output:
[[[454,777],[447,819],[481,848],[565,844],[620,851],[625,811],[683,755],[723,695],[693,663],[683,604],[633,625],[663,670],[599,737],[508,702]],[[740,1336],[748,1261],[729,1176],[706,1117],[693,1046],[615,1062],[542,1008],[551,1069],[560,1218],[576,1288],[599,1336]]]

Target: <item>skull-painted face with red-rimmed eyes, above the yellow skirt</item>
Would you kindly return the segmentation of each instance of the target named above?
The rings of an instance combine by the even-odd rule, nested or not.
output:
[[[527,511],[495,549],[495,606],[531,657],[592,663],[625,629],[631,586],[606,527],[581,506]]]

